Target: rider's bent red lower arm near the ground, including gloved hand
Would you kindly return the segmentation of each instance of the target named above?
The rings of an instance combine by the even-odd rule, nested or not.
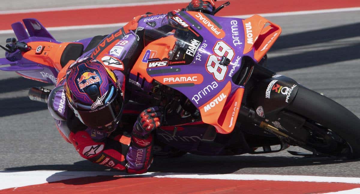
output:
[[[160,125],[156,108],[143,111],[132,134],[117,130],[109,137],[96,129],[72,130],[69,141],[81,157],[100,165],[129,173],[141,174],[152,163],[153,136],[151,131]],[[76,117],[74,118],[76,119]]]

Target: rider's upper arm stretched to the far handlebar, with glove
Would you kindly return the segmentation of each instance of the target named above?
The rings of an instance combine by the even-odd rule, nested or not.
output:
[[[192,0],[189,6],[182,10],[211,13],[214,9],[215,4],[213,0]],[[106,53],[106,55],[116,57],[120,62],[109,57],[103,58],[103,56],[99,57],[99,59],[104,59],[102,61],[105,65],[120,67],[118,69],[123,69],[125,74],[127,74],[148,43],[165,36],[175,28],[181,28],[180,24],[171,19],[179,11],[181,10],[174,10],[166,14],[139,15],[134,17],[124,27],[108,35],[103,44],[96,47],[94,52],[89,55],[98,58],[98,56]],[[109,44],[109,47],[101,46],[107,44]]]

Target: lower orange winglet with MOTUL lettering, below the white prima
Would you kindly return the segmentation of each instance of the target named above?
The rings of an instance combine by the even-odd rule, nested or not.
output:
[[[215,126],[217,133],[228,134],[235,127],[244,88],[238,88],[229,100],[230,91],[231,83],[228,82],[214,98],[199,107],[203,122]]]

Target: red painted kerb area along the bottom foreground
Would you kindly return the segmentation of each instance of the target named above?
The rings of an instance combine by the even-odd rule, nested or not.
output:
[[[54,183],[4,189],[0,193],[328,193],[359,188],[360,184],[314,183],[261,180],[180,179],[98,176],[69,179]]]

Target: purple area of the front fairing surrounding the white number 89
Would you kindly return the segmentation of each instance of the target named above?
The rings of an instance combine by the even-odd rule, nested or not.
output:
[[[189,13],[186,12],[180,12],[177,15],[190,24],[190,26],[192,26],[191,24],[196,21]],[[206,27],[201,24],[201,27],[196,29],[196,31],[204,38],[204,40],[200,43],[198,50],[195,52],[193,62],[189,65],[171,66],[171,68],[178,69],[176,73],[174,73],[174,71],[167,71],[169,73],[161,72],[162,69],[169,69],[168,66],[165,66],[156,68],[159,70],[157,71],[158,73],[151,74],[152,77],[189,73],[201,74],[203,77],[203,82],[201,84],[195,84],[193,86],[180,84],[170,85],[170,87],[185,94],[185,96],[188,97],[198,108],[219,93],[229,82],[231,83],[231,94],[238,88],[243,88],[243,86],[238,86],[233,83],[232,76],[240,69],[242,57],[249,56],[255,61],[253,58],[253,51],[243,54],[245,36],[242,19],[222,18],[207,14],[204,15],[211,18],[212,21],[216,21],[217,25],[222,28],[226,36],[222,39],[217,39]],[[199,26],[199,23],[195,22],[195,24]],[[210,73],[207,70],[206,65],[207,62],[210,61],[209,57],[211,57],[211,55],[216,56],[215,51],[213,50],[214,47],[218,44],[224,45],[224,43],[234,51],[234,54],[230,64],[226,67],[225,77],[223,77],[222,80],[216,80],[214,76],[215,74]],[[148,68],[148,71],[149,70],[150,69]],[[158,81],[162,82],[163,80]],[[206,88],[208,88],[207,93],[203,93]]]

